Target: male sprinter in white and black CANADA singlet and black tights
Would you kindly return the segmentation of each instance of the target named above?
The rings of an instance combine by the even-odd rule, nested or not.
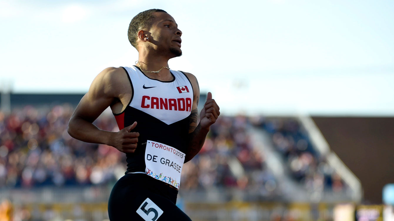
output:
[[[111,221],[190,220],[175,206],[180,174],[220,112],[208,93],[197,125],[197,79],[168,67],[170,58],[182,55],[181,35],[174,18],[161,9],[136,15],[128,39],[138,50],[138,62],[100,72],[70,119],[72,137],[126,153],[127,171],[108,202]],[[119,132],[92,124],[108,106]]]

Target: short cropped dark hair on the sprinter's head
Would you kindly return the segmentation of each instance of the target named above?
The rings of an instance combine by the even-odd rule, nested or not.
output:
[[[128,40],[130,44],[137,48],[137,38],[138,38],[138,31],[144,28],[150,29],[152,26],[152,21],[154,16],[154,12],[165,12],[162,9],[149,9],[143,12],[138,13],[130,22],[128,26]]]

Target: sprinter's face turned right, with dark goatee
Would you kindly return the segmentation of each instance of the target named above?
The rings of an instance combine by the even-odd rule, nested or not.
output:
[[[181,56],[182,31],[178,29],[175,19],[165,12],[156,12],[155,15],[150,30],[153,39],[150,42],[156,45],[157,50],[169,53],[171,57]]]

